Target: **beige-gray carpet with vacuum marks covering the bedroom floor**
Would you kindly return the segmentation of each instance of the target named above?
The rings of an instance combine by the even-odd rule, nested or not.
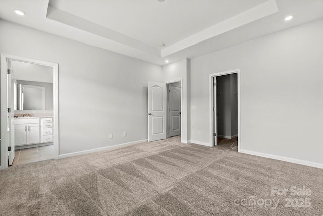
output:
[[[272,196],[275,186],[287,194]],[[293,186],[311,193],[292,196]],[[173,137],[0,174],[1,215],[323,215],[322,203],[322,169],[240,154],[225,139]]]

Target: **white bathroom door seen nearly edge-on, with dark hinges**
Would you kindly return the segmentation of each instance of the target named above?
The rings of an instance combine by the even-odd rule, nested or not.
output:
[[[11,68],[11,61],[8,61],[8,74],[7,74],[7,83],[8,83],[8,165],[11,166],[15,158],[15,122],[14,122],[14,71]]]

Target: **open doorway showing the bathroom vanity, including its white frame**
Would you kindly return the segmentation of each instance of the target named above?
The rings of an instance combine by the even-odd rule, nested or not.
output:
[[[1,169],[57,159],[58,64],[6,54],[1,63]]]

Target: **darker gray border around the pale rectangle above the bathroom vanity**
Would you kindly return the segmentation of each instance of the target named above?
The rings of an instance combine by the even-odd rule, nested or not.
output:
[[[45,87],[45,110],[53,110],[53,108],[54,108],[54,99],[53,99],[54,92],[53,92],[53,84],[52,83],[17,80],[18,109],[19,109],[19,88],[18,88],[19,84]]]

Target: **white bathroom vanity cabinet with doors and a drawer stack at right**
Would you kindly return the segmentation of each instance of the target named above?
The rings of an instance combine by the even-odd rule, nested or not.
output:
[[[15,119],[15,146],[53,142],[53,118]]]

